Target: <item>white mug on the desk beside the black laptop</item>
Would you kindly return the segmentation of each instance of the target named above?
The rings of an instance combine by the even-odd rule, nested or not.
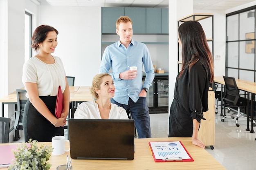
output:
[[[69,140],[65,140],[64,136],[55,136],[52,137],[52,155],[62,155],[65,152],[69,151],[70,148],[68,150],[65,150],[65,142],[70,143]]]

